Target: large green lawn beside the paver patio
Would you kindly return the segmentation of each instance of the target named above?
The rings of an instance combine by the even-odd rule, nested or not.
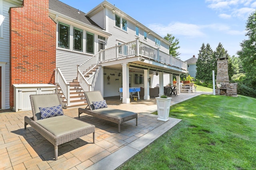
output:
[[[180,123],[121,170],[256,169],[256,99],[200,95],[170,108]]]

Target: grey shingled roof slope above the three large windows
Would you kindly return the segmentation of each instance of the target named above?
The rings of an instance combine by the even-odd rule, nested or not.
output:
[[[53,10],[55,12],[58,12],[60,14],[63,14],[65,16],[68,16],[70,18],[73,18],[75,20],[86,23],[88,25],[94,26],[98,29],[102,29],[99,25],[97,25],[90,18],[84,16],[85,15],[84,12],[79,11],[79,13],[78,13],[78,9],[68,6],[67,4],[60,2],[59,0],[49,0],[49,9]]]

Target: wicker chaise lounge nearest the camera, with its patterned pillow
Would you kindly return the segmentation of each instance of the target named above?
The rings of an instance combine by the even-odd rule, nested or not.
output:
[[[33,117],[24,117],[24,127],[29,124],[54,145],[55,160],[58,159],[58,145],[93,133],[95,126],[63,114],[58,94],[30,95]]]

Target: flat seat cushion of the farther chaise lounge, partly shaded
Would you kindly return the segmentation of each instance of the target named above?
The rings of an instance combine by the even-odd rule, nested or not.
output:
[[[137,113],[131,112],[131,111],[125,111],[125,110],[119,110],[119,109],[113,109],[113,108],[102,108],[102,109],[94,109],[93,111],[97,113],[102,113],[105,115],[117,117],[117,118],[124,118],[130,115],[134,115]]]

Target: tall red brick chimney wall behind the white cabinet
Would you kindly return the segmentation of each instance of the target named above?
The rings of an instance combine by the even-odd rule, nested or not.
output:
[[[49,17],[48,0],[24,0],[10,9],[10,107],[12,84],[54,83],[56,23]]]

